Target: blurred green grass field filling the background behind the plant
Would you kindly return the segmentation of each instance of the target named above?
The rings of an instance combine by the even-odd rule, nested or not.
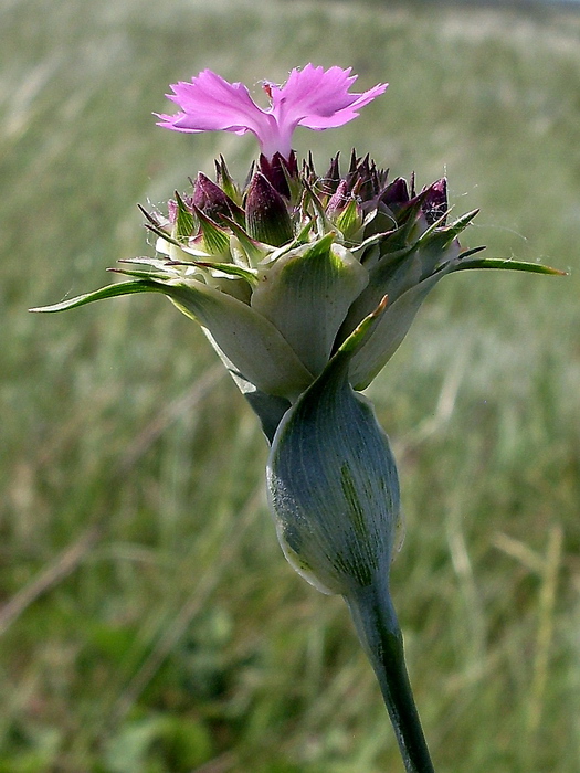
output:
[[[580,770],[580,18],[430,4],[7,0],[0,9],[0,773],[398,771],[339,600],[294,575],[265,444],[200,331],[139,297],[40,318],[146,248],[157,203],[250,138],[154,126],[209,66],[391,83],[335,133],[468,246],[568,279],[444,283],[371,388],[401,466],[393,593],[436,770]],[[150,250],[150,247],[148,247]]]

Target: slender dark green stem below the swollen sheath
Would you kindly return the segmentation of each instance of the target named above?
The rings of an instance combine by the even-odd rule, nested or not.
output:
[[[434,773],[407,674],[403,638],[388,581],[357,589],[345,601],[379,680],[407,773]]]

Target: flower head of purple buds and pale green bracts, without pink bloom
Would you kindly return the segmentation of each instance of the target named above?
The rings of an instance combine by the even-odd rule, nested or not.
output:
[[[270,438],[285,410],[323,372],[355,328],[387,296],[388,306],[349,367],[363,389],[404,338],[440,278],[467,268],[545,266],[462,252],[457,236],[476,212],[447,223],[445,179],[414,190],[387,181],[368,157],[338,157],[317,176],[294,153],[260,159],[241,191],[223,160],[217,182],[199,174],[167,214],[145,213],[157,256],[122,261],[130,277],[35,311],[61,311],[101,298],[155,292],[205,330],[262,419]]]

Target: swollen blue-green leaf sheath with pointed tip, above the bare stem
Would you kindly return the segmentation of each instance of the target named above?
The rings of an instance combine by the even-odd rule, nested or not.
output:
[[[309,583],[346,597],[388,578],[400,519],[397,466],[349,362],[384,301],[286,412],[267,465],[284,554]]]

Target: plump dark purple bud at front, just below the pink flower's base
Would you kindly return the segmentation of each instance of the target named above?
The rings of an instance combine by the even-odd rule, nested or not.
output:
[[[245,229],[252,239],[274,247],[294,236],[286,201],[262,172],[254,174],[247,188]]]

